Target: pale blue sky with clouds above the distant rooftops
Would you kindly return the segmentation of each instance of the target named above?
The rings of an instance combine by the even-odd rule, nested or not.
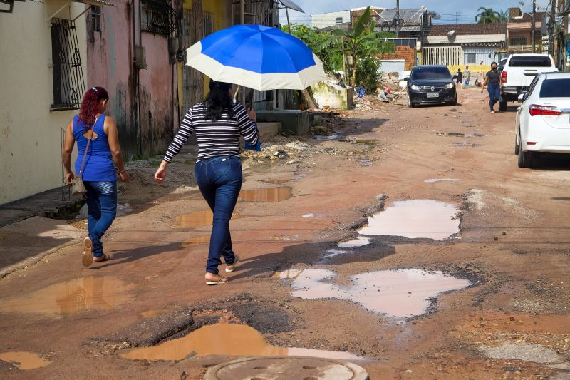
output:
[[[289,10],[291,23],[310,24],[311,14],[321,14],[333,11],[344,11],[349,8],[359,8],[362,6],[376,6],[378,8],[395,8],[395,0],[293,0],[305,13]],[[548,0],[536,0],[537,11],[545,11],[548,8]],[[522,5],[521,5],[522,4]],[[434,20],[434,24],[467,24],[475,22],[477,9],[481,6],[492,8],[495,11],[507,10],[512,7],[519,7],[523,11],[532,11],[532,0],[400,0],[400,8],[420,8],[425,5],[430,11],[441,14],[441,19]],[[286,14],[284,9],[279,12],[281,24],[286,24]]]

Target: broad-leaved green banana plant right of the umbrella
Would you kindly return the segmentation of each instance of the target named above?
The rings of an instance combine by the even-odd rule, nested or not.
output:
[[[351,31],[335,29],[331,31],[331,35],[336,37],[336,48],[333,50],[341,53],[344,51],[350,58],[346,69],[351,74],[348,76],[348,84],[351,86],[356,83],[358,61],[394,51],[394,44],[385,41],[385,38],[392,36],[392,34],[374,31],[374,20],[370,15],[370,7],[367,7],[363,14],[358,17]]]

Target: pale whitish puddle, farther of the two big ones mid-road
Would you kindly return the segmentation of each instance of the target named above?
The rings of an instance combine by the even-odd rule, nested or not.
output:
[[[368,217],[368,226],[358,233],[445,240],[459,232],[458,212],[455,205],[436,200],[398,201]]]

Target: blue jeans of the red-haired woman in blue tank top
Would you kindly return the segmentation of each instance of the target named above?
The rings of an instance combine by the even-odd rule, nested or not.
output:
[[[101,237],[117,215],[117,181],[83,182],[87,189],[87,230],[93,242],[93,257],[101,257]]]

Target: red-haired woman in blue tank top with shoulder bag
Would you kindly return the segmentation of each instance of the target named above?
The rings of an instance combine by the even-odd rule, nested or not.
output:
[[[103,253],[101,237],[115,220],[117,213],[117,176],[129,180],[120,152],[119,136],[115,120],[105,115],[109,95],[103,87],[90,88],[83,96],[79,115],[73,116],[66,127],[63,143],[63,166],[66,183],[81,176],[87,189],[88,237],[83,240],[82,262],[88,267],[93,262],[110,260]],[[71,152],[77,142],[78,157],[75,173],[71,170]]]

